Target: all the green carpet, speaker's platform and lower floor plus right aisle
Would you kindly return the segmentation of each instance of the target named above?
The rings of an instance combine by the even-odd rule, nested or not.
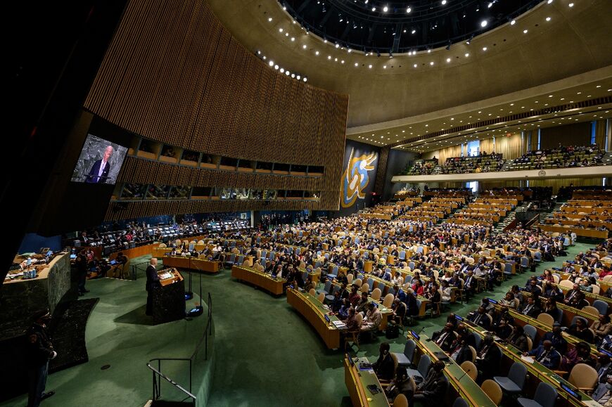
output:
[[[592,244],[570,247],[568,257],[540,266],[561,266]],[[144,257],[143,259],[146,259]],[[532,273],[515,276],[495,292],[486,292],[469,304],[453,304],[450,311],[465,315],[480,298],[499,298],[514,284],[524,285]],[[186,276],[186,275],[185,275]],[[186,276],[187,277],[187,276]],[[214,378],[208,406],[350,406],[344,384],[343,352],[326,349],[309,323],[286,302],[229,277],[229,271],[204,275],[203,293],[212,295],[215,320]],[[197,282],[197,280],[194,280]],[[151,374],[145,363],[155,357],[191,354],[205,318],[153,326],[144,315],[144,278],[136,282],[93,280],[87,297],[100,297],[87,324],[89,362],[49,376],[47,389],[56,389],[43,406],[144,406],[151,398]],[[188,304],[188,308],[197,300]],[[447,311],[448,312],[448,311]],[[431,335],[446,316],[426,318],[415,324]],[[385,337],[364,343],[359,356],[375,358]],[[405,337],[390,341],[392,351],[402,351]],[[194,387],[202,381],[210,361],[198,358]],[[108,370],[101,366],[110,364]],[[169,366],[180,382],[177,366]],[[174,377],[173,377],[174,378]],[[170,398],[172,393],[164,394]],[[0,406],[24,406],[22,396]]]

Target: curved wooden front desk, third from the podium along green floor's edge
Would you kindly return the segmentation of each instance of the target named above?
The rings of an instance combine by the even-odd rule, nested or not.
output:
[[[340,347],[340,330],[332,323],[328,324],[324,316],[328,314],[330,321],[340,320],[335,315],[329,315],[330,310],[325,309],[318,299],[312,297],[307,292],[288,288],[287,303],[293,306],[310,322],[312,328],[317,330],[319,336],[329,349],[338,349]]]

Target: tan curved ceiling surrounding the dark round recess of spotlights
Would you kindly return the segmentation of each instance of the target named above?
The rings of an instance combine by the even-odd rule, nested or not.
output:
[[[358,132],[351,128],[385,129],[419,115],[521,94],[612,67],[609,0],[543,1],[516,24],[479,35],[469,45],[461,42],[450,50],[441,47],[395,58],[325,43],[276,0],[244,0],[241,7],[208,1],[251,52],[260,51],[281,67],[306,75],[314,86],[348,93],[349,134]],[[604,69],[599,79],[609,72]]]

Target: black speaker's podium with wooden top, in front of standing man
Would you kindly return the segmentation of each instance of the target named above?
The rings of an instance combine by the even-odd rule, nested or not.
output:
[[[153,289],[153,323],[185,318],[185,282],[177,269],[158,271],[160,286]]]

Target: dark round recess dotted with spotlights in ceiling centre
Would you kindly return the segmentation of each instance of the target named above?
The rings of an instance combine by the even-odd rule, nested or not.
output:
[[[375,54],[411,53],[490,31],[545,0],[279,0],[307,30]]]

